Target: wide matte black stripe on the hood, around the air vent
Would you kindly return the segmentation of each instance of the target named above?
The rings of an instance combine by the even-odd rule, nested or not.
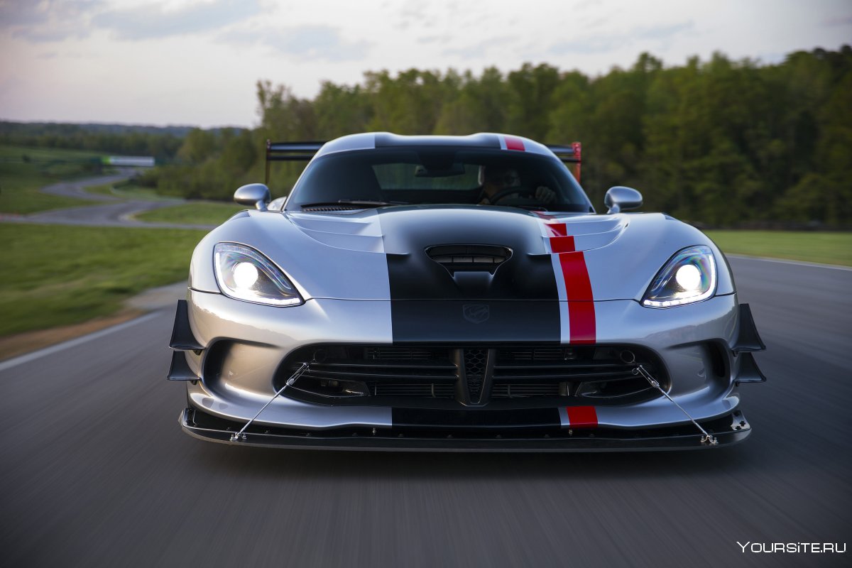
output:
[[[380,209],[394,341],[560,341],[553,264],[537,218],[520,210]],[[450,270],[430,247],[511,250],[496,269]]]

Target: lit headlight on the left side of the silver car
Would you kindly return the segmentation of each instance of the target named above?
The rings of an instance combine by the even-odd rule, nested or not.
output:
[[[243,244],[219,243],[213,249],[216,282],[222,294],[268,306],[297,306],[302,296],[272,261]]]

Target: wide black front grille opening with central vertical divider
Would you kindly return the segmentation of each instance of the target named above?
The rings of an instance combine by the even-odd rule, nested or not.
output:
[[[627,355],[628,352],[630,356]],[[302,364],[307,372],[285,396],[321,404],[629,404],[659,396],[633,374],[636,359],[660,386],[670,382],[659,359],[635,346],[302,347],[275,377],[279,389]],[[509,401],[514,401],[509,403]],[[430,402],[431,401],[431,402]]]

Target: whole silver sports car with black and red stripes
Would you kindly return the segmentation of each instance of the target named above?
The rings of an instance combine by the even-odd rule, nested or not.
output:
[[[178,302],[187,433],[559,451],[751,432],[739,386],[765,380],[764,347],[724,255],[671,216],[625,213],[642,204],[629,187],[596,214],[579,143],[367,133],[270,156],[309,162],[287,198],[237,190],[252,208],[199,243]]]

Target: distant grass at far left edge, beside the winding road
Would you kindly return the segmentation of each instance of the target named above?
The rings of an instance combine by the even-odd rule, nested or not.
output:
[[[0,213],[26,215],[94,203],[46,195],[38,190],[63,180],[97,175],[95,164],[85,160],[100,155],[99,152],[0,146]],[[25,156],[29,162],[24,161]]]

